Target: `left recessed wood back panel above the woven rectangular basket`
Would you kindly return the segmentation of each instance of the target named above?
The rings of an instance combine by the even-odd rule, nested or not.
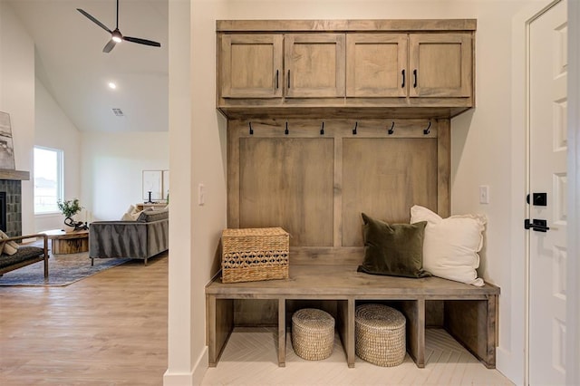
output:
[[[240,227],[283,227],[291,246],[333,245],[333,139],[243,138]]]

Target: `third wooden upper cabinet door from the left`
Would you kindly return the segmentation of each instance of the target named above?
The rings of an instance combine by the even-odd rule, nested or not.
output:
[[[406,97],[407,34],[346,35],[346,96]]]

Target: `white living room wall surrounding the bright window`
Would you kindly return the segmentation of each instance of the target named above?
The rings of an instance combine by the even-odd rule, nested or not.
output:
[[[34,131],[34,145],[63,150],[64,199],[79,198],[81,205],[86,207],[81,197],[81,132],[64,114],[38,78],[36,78],[35,84],[36,130]],[[84,219],[82,218],[83,214],[79,214],[77,217],[79,217],[75,217],[77,220]],[[62,228],[63,220],[64,217],[60,213],[37,215],[35,216],[34,230],[39,232]]]

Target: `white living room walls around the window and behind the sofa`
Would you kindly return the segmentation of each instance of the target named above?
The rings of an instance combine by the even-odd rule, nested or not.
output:
[[[64,198],[80,198],[82,220],[121,218],[143,201],[141,171],[169,169],[169,133],[82,132],[34,76],[34,41],[0,1],[0,111],[10,113],[16,169],[23,181],[23,233],[56,228],[63,217],[34,217],[34,145],[64,150]]]

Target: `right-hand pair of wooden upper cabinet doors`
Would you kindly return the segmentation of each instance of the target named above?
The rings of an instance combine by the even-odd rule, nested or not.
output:
[[[471,34],[346,36],[347,97],[469,98],[472,68]]]

